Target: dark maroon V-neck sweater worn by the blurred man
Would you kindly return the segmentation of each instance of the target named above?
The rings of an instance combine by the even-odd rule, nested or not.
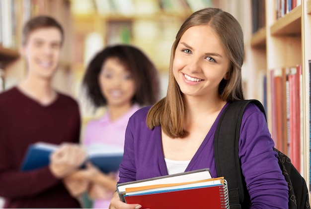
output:
[[[21,162],[36,142],[78,143],[78,103],[58,93],[56,101],[41,105],[14,87],[0,94],[0,196],[4,208],[79,208],[49,167],[22,172]]]

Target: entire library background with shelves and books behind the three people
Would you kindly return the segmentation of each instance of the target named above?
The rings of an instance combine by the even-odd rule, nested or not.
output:
[[[0,92],[25,76],[18,52],[23,23],[48,14],[65,29],[53,84],[78,100],[82,127],[104,111],[84,108],[80,82],[90,58],[107,45],[132,44],[146,52],[160,72],[164,96],[175,35],[204,7],[222,8],[240,22],[245,97],[264,104],[276,148],[292,159],[310,191],[311,0],[1,0]]]

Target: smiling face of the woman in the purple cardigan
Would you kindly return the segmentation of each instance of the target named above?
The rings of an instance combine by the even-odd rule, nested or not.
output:
[[[185,97],[219,97],[230,59],[208,25],[190,27],[182,35],[173,61],[173,74]]]

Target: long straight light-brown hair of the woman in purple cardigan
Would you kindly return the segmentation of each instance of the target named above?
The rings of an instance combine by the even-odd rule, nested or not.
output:
[[[172,138],[187,135],[187,131],[183,129],[184,98],[172,72],[175,51],[184,32],[198,25],[209,25],[215,31],[230,59],[228,80],[223,79],[219,85],[220,99],[244,99],[241,78],[244,43],[240,24],[230,13],[218,8],[205,8],[194,12],[180,27],[171,48],[167,95],[151,107],[146,120],[150,129],[161,125],[163,132]]]

